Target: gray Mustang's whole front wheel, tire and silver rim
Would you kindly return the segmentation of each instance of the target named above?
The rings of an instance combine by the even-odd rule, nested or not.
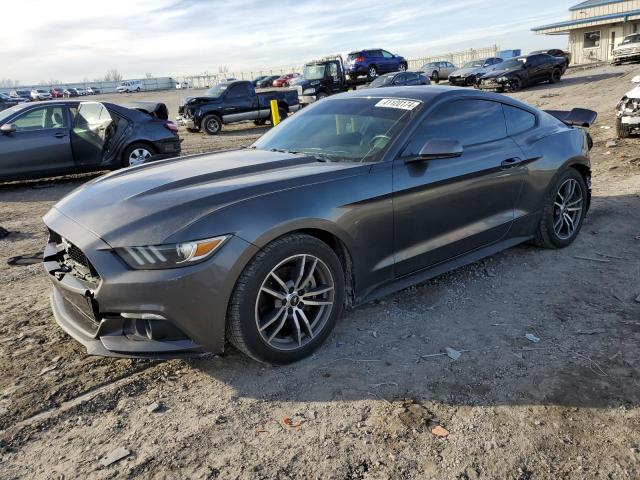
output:
[[[281,237],[238,279],[229,303],[228,339],[260,362],[300,360],[331,333],[344,291],[340,260],[327,244],[305,234]]]

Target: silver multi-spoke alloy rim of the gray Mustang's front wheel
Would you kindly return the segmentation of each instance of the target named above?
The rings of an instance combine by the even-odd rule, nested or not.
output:
[[[335,282],[322,260],[308,254],[286,258],[269,272],[258,291],[258,332],[271,348],[302,348],[326,326],[334,298]]]

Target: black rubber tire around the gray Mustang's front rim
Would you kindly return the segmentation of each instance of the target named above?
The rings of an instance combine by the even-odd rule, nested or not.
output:
[[[305,344],[295,349],[278,349],[267,343],[258,330],[256,311],[259,294],[276,266],[303,254],[313,255],[327,267],[334,283],[333,304],[320,330],[312,337],[307,336]],[[295,362],[310,355],[329,336],[342,314],[344,295],[344,272],[335,252],[315,237],[300,233],[286,235],[258,252],[240,275],[229,301],[227,339],[238,350],[259,362],[280,365]],[[289,322],[289,314],[286,315],[286,321]]]

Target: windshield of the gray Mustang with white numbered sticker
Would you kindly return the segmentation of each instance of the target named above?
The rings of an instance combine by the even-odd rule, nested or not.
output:
[[[323,100],[270,130],[252,148],[321,161],[377,162],[421,107],[420,101],[400,98]]]

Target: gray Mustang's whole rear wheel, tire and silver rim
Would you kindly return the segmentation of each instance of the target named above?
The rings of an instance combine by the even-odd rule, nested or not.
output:
[[[578,236],[587,214],[588,190],[580,173],[569,168],[547,194],[535,243],[545,248],[563,248]]]

